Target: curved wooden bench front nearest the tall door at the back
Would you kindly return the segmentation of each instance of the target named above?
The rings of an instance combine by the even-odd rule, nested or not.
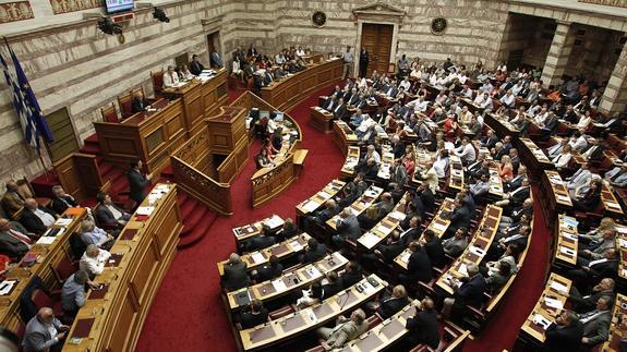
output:
[[[337,58],[312,64],[304,71],[263,87],[262,99],[279,110],[289,110],[312,93],[338,82],[342,70],[342,61]]]

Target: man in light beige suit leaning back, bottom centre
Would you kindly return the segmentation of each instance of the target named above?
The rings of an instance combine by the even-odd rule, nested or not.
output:
[[[326,351],[341,349],[347,342],[355,339],[367,330],[365,313],[362,309],[355,309],[350,315],[350,319],[339,316],[336,326],[331,328],[322,327],[317,329],[317,336],[324,340],[323,348]]]

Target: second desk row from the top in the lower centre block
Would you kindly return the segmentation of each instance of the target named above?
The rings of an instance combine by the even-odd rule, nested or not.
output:
[[[267,248],[255,251],[253,253],[246,253],[240,258],[246,264],[246,270],[251,271],[268,263],[270,256],[273,255],[280,260],[304,251],[309,239],[311,239],[309,233],[303,232],[282,242],[275,243]],[[225,265],[227,265],[228,262],[229,260],[217,263],[218,272],[220,276],[225,275]]]

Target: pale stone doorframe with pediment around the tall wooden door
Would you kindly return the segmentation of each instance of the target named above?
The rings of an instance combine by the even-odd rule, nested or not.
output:
[[[402,19],[407,12],[402,9],[393,7],[386,2],[377,1],[371,4],[359,7],[352,10],[352,17],[357,25],[357,43],[354,46],[354,57],[361,51],[361,34],[364,23],[371,24],[388,24],[393,25],[391,32],[391,48],[389,50],[389,60],[396,62],[396,52],[398,50],[398,33]],[[389,62],[388,62],[389,66]],[[353,71],[359,70],[359,59],[353,60]],[[387,71],[386,71],[387,72]]]

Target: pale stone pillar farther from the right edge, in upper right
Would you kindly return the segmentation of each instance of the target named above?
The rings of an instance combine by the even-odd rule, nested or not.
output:
[[[556,85],[562,81],[574,43],[575,35],[570,23],[557,21],[553,43],[551,44],[551,49],[544,62],[544,70],[542,71],[544,87]]]

